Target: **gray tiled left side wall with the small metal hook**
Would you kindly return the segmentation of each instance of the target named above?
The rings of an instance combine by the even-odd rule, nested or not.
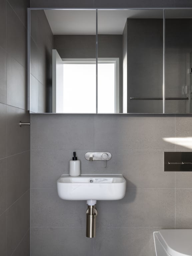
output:
[[[27,7],[0,0],[0,255],[30,255],[30,121],[26,111]]]

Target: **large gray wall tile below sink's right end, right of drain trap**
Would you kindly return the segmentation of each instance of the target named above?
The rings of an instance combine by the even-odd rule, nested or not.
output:
[[[174,227],[175,189],[127,189],[118,201],[97,202],[98,227]]]

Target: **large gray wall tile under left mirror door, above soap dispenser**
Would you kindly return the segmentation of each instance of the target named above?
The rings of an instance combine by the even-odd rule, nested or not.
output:
[[[32,115],[31,149],[93,149],[94,115]]]

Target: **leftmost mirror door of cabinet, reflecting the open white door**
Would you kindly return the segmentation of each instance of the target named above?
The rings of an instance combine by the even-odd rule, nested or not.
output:
[[[96,113],[96,10],[30,10],[30,112]]]

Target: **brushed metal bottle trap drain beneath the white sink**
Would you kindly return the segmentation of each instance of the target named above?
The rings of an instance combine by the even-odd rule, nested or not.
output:
[[[86,211],[86,237],[93,238],[96,233],[96,216],[97,209],[95,208],[96,200],[87,200],[88,208]]]

